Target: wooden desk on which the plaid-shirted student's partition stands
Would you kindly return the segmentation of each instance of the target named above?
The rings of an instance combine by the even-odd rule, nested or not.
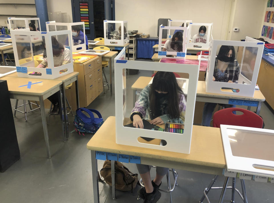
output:
[[[133,106],[135,106],[135,102],[136,102],[136,92],[142,91],[142,89],[144,89],[144,87],[148,85],[151,79],[152,79],[151,77],[141,76],[131,86],[131,89],[133,89]],[[257,106],[256,114],[258,115],[261,110],[261,104],[263,101],[265,101],[265,97],[263,96],[260,90],[255,90],[253,97],[208,93],[206,92],[206,81],[198,81],[196,101],[229,104],[229,99],[257,101],[258,106]],[[248,106],[247,109],[250,110],[250,106]]]

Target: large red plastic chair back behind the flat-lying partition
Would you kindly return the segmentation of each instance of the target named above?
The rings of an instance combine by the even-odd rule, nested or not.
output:
[[[241,111],[242,115],[233,114],[233,111]],[[252,128],[262,128],[263,119],[252,111],[243,108],[224,108],[213,115],[213,127],[220,125],[245,126]]]

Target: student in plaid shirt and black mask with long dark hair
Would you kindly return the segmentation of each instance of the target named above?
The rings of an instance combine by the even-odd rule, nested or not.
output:
[[[215,60],[212,80],[217,82],[238,83],[239,71],[240,67],[238,61],[235,60],[234,47],[222,45]],[[212,113],[216,105],[216,103],[205,102],[202,126],[210,125]],[[224,104],[224,106],[225,108],[235,107],[235,105],[231,104]]]

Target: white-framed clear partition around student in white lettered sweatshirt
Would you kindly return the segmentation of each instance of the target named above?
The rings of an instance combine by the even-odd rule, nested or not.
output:
[[[187,48],[207,50],[211,39],[212,26],[213,23],[190,23]],[[200,29],[201,32],[206,31],[204,36],[202,36],[203,33],[199,33]]]

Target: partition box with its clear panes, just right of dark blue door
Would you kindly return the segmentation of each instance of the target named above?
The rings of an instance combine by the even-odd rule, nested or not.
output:
[[[128,22],[104,20],[104,44],[123,46],[128,42]]]

